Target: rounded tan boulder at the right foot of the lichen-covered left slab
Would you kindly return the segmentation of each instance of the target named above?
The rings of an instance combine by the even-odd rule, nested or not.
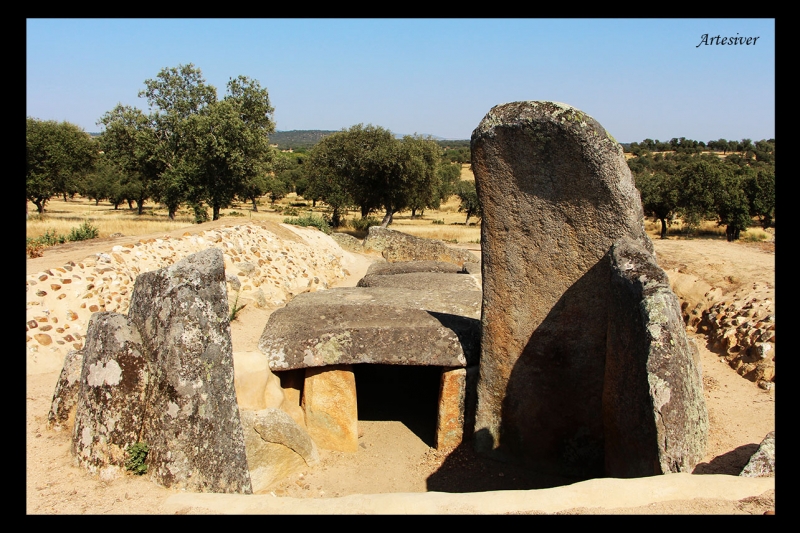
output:
[[[239,415],[253,493],[264,492],[319,462],[319,452],[308,432],[280,409],[242,410]]]

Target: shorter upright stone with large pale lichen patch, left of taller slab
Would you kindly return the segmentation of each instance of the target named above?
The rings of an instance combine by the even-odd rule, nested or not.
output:
[[[148,362],[139,332],[118,313],[92,315],[83,354],[72,451],[93,474],[113,478],[140,441]]]

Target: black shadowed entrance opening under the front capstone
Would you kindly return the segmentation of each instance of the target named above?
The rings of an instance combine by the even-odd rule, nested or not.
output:
[[[359,420],[396,420],[436,445],[441,367],[358,364],[353,373]]]

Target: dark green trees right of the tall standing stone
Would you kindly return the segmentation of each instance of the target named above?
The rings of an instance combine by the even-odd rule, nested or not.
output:
[[[676,217],[690,230],[715,220],[725,226],[729,241],[754,224],[775,225],[775,139],[743,139],[735,145],[721,139],[699,151],[688,148],[695,141],[679,141],[666,154],[657,141],[631,143],[636,157],[628,159],[645,214],[661,222],[662,239]],[[708,147],[718,148],[723,157],[707,153]]]

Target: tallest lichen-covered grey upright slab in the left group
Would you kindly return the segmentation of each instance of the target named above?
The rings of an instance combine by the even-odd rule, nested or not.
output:
[[[129,314],[153,368],[142,440],[166,487],[252,492],[228,313],[217,248],[136,279]]]

